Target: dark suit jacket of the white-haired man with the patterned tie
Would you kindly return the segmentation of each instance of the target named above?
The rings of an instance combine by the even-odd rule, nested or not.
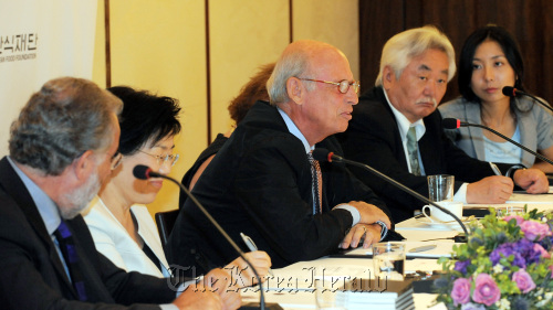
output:
[[[366,163],[428,197],[426,177],[409,173],[399,128],[382,87],[374,87],[361,96],[352,116],[347,130],[337,135],[346,158]],[[493,175],[488,162],[467,156],[445,136],[437,109],[425,117],[424,122],[426,133],[418,141],[418,147],[426,175],[455,175],[456,192],[463,182],[471,183]],[[505,172],[511,164],[498,167]],[[413,212],[425,205],[366,170],[351,170],[386,202],[395,223],[413,217]]]

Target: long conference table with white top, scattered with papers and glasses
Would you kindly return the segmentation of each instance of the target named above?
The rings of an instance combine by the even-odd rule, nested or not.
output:
[[[553,210],[553,186],[547,194],[529,195],[515,192],[504,204],[468,204],[463,213],[478,213],[489,207],[498,212],[521,211],[538,209],[539,211]],[[465,221],[463,221],[465,222]],[[441,270],[437,263],[440,256],[450,256],[453,236],[462,232],[458,224],[430,224],[424,216],[411,217],[396,224],[396,232],[405,237],[407,259],[405,261],[406,277],[413,275],[431,275]],[[436,245],[435,248],[421,253],[410,254],[408,250],[421,245]],[[336,279],[371,278],[373,275],[373,259],[371,249],[357,248],[345,254],[331,255],[312,261],[299,261],[284,268],[273,269],[274,276],[263,284],[265,302],[278,302],[283,309],[315,309],[313,278],[316,270],[324,269],[324,277]],[[446,307],[436,303],[435,293],[415,292],[415,309],[441,310]],[[243,302],[259,301],[259,287],[247,288],[242,291]]]

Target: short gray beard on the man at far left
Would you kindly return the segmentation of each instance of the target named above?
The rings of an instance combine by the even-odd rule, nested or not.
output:
[[[66,206],[60,205],[60,213],[63,218],[71,220],[75,217],[88,205],[100,191],[101,184],[98,180],[98,174],[94,173],[81,188],[63,195],[63,200],[67,204]]]

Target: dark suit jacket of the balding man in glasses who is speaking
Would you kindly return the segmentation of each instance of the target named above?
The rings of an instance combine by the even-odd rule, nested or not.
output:
[[[316,147],[341,153],[334,138]],[[322,163],[321,169],[323,214],[313,215],[305,147],[290,133],[275,107],[258,101],[208,165],[192,193],[242,250],[249,252],[240,232],[265,250],[279,268],[337,250],[353,218],[348,211],[331,211],[335,205],[365,201],[387,212],[383,202],[344,165]],[[187,200],[169,238],[169,263],[196,265],[201,270],[206,268],[201,259],[222,266],[237,256]]]

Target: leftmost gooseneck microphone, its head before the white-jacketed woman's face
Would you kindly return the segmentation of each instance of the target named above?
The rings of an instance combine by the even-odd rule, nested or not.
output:
[[[190,200],[194,202],[194,204],[196,204],[196,206],[204,213],[204,215],[206,215],[206,217],[209,220],[209,222],[211,222],[211,224],[213,224],[213,226],[217,228],[217,231],[219,231],[219,233],[234,248],[234,250],[238,253],[238,255],[240,257],[242,257],[242,259],[246,261],[246,264],[248,264],[248,266],[253,271],[253,275],[255,275],[255,278],[258,279],[259,293],[260,293],[260,298],[259,298],[259,303],[260,304],[259,304],[259,307],[257,304],[248,303],[248,304],[244,304],[244,306],[240,307],[240,309],[243,309],[243,310],[249,310],[249,309],[252,309],[252,310],[253,309],[264,310],[265,309],[265,299],[264,299],[264,296],[263,296],[263,285],[261,282],[261,277],[259,277],[258,271],[255,270],[255,268],[253,268],[253,265],[251,265],[251,263],[246,258],[244,253],[234,243],[234,240],[232,240],[232,238],[227,234],[227,232],[225,232],[225,229],[219,225],[219,223],[217,223],[217,221],[211,216],[211,214],[209,214],[209,212],[204,207],[204,205],[201,205],[201,203],[190,193],[190,191],[188,191],[188,189],[185,188],[185,185],[182,185],[177,180],[175,180],[175,179],[173,179],[170,177],[167,177],[165,174],[161,174],[159,172],[155,172],[149,167],[144,165],[144,164],[137,164],[137,165],[135,165],[135,168],[133,169],[133,175],[136,179],[138,179],[138,180],[148,180],[150,178],[161,178],[161,179],[169,180],[173,183],[179,185],[180,190],[182,192],[185,192],[188,195],[188,197],[190,197]],[[272,303],[272,302],[268,302],[267,303],[267,309],[282,310],[282,308],[279,306],[279,303]]]

